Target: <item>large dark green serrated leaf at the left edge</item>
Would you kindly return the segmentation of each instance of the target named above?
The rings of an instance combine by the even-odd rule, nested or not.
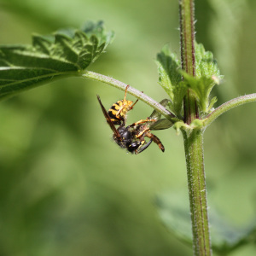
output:
[[[53,79],[79,75],[113,39],[102,21],[82,29],[61,29],[49,36],[33,35],[32,45],[0,46],[0,98]]]

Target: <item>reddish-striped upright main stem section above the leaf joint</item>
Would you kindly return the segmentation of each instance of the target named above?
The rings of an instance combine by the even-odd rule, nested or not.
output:
[[[182,68],[186,73],[195,76],[195,27],[194,1],[180,0],[180,45]],[[188,90],[183,101],[184,122],[188,125],[199,118],[195,95]]]

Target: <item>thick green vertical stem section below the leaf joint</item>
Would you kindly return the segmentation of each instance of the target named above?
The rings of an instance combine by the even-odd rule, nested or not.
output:
[[[183,130],[189,185],[193,247],[196,256],[212,255],[207,213],[207,189],[204,171],[203,131]]]

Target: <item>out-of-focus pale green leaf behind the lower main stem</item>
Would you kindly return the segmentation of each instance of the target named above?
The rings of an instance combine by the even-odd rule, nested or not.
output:
[[[156,205],[166,227],[180,240],[192,244],[189,195],[177,191],[162,194],[157,196]],[[245,227],[237,227],[218,214],[214,206],[210,206],[209,209],[213,250],[218,253],[230,253],[236,247],[250,242],[250,236],[256,230],[256,219]]]

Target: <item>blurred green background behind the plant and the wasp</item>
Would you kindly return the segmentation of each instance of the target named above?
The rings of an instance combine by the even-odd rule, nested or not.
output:
[[[177,1],[0,0],[0,44],[30,44],[32,32],[104,20],[116,32],[90,70],[160,101],[154,60],[164,44],[179,52]],[[256,2],[195,1],[196,38],[212,50],[224,83],[217,105],[255,92]],[[0,255],[192,255],[158,217],[154,196],[186,190],[183,139],[125,154],[111,142],[96,94],[108,108],[124,92],[63,79],[0,105]],[[129,99],[132,99],[129,96]],[[133,98],[134,99],[134,98]],[[138,102],[128,122],[152,109]],[[205,134],[209,205],[236,224],[256,212],[256,104],[225,113]],[[253,255],[255,243],[230,255]]]

